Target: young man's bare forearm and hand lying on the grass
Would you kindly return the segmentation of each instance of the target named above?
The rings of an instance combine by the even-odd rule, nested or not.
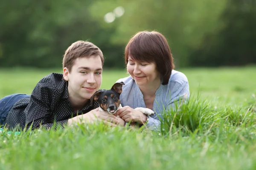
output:
[[[109,114],[107,112],[99,111],[99,108],[96,108],[88,113],[73,117],[71,119],[68,119],[67,125],[73,125],[77,123],[93,123],[97,121],[103,121],[105,124],[111,125],[111,126],[124,126],[125,121],[121,118],[118,118],[112,114]]]

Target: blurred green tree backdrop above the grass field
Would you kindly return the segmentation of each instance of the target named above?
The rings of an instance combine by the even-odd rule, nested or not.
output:
[[[143,30],[166,36],[178,68],[256,63],[256,0],[0,0],[0,68],[61,68],[77,40],[124,68]]]

